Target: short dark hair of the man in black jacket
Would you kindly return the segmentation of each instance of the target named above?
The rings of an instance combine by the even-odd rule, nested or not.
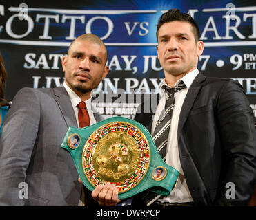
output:
[[[161,15],[157,23],[157,41],[158,41],[158,31],[161,28],[161,25],[171,21],[184,21],[190,23],[193,28],[193,33],[195,36],[195,42],[199,41],[200,32],[197,23],[195,23],[193,17],[189,14],[181,13],[178,8],[173,8],[168,10],[168,12]]]

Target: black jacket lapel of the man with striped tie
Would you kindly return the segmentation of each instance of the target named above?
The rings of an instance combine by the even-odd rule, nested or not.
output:
[[[206,76],[199,73],[193,83],[190,85],[190,88],[188,89],[188,94],[186,95],[186,98],[181,108],[181,113],[179,115],[178,134],[181,133],[181,129],[183,128],[186,119],[188,118],[188,113],[190,113],[190,110],[193,107],[195,98],[197,98],[197,94],[201,89],[201,83],[204,82],[204,80],[206,80]]]

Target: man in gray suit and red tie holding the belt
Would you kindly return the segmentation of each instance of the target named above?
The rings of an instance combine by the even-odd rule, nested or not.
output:
[[[0,206],[79,205],[82,184],[61,143],[69,126],[83,127],[81,123],[101,120],[92,111],[90,95],[108,74],[107,54],[97,36],[83,34],[71,43],[68,56],[63,58],[63,85],[24,88],[14,97],[0,140]],[[80,103],[86,105],[82,110]],[[79,120],[80,110],[80,118],[86,120]],[[101,186],[97,193],[102,188],[107,194],[110,187]],[[106,200],[109,205],[111,202]]]

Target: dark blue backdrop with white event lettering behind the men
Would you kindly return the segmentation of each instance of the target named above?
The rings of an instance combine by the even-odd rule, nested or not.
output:
[[[256,118],[256,3],[248,1],[0,1],[0,48],[8,72],[6,99],[22,87],[63,83],[61,58],[70,42],[97,34],[108,48],[107,78],[94,91],[106,118],[134,118],[141,94],[158,91],[164,72],[157,59],[156,25],[179,8],[199,24],[204,54],[199,71],[233,78],[244,87]],[[143,97],[142,97],[143,98]]]

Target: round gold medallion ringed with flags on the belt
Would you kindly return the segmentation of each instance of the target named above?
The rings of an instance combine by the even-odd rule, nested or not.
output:
[[[119,193],[135,187],[150,164],[150,146],[128,122],[110,122],[92,133],[83,147],[83,172],[93,186],[115,183]]]

